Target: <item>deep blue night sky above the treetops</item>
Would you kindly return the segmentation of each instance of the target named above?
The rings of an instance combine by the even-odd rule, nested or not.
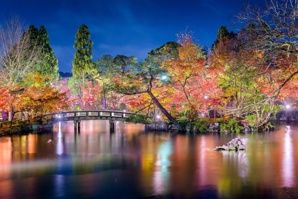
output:
[[[252,4],[256,0],[248,0]],[[104,54],[146,57],[151,49],[175,34],[188,30],[203,45],[211,45],[220,26],[231,27],[231,18],[242,8],[242,0],[131,0],[131,1],[13,1],[0,0],[0,13],[17,14],[28,25],[44,25],[59,71],[71,72],[75,33],[84,23],[89,27],[93,60]],[[2,21],[0,19],[0,21]],[[233,30],[230,28],[230,30]]]

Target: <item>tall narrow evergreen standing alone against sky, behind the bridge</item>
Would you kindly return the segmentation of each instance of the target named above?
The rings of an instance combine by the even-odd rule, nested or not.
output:
[[[79,27],[75,38],[74,49],[76,49],[76,52],[72,61],[72,74],[74,77],[82,78],[82,86],[84,87],[86,74],[91,74],[94,71],[94,63],[92,61],[93,41],[90,40],[90,31],[85,24]]]

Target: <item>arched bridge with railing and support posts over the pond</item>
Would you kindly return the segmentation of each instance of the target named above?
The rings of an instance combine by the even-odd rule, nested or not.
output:
[[[115,121],[125,121],[125,118],[140,113],[130,113],[124,111],[109,111],[109,110],[86,110],[86,111],[68,111],[62,113],[52,113],[45,115],[51,123],[74,121],[75,132],[80,129],[81,120],[109,120],[110,129],[114,130]]]

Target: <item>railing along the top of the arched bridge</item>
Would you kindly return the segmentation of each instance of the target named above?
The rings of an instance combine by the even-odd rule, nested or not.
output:
[[[128,118],[129,116],[137,114],[137,115],[143,115],[140,113],[131,113],[131,112],[125,112],[125,111],[111,111],[111,110],[85,110],[85,111],[67,111],[67,112],[61,112],[61,113],[51,113],[46,114],[46,117],[51,118],[68,118],[68,117],[80,117],[80,116],[93,116],[93,117],[115,117],[115,118]]]

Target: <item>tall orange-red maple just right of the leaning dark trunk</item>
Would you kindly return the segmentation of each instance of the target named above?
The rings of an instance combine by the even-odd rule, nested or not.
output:
[[[216,105],[218,92],[217,79],[212,68],[207,65],[205,51],[194,42],[192,32],[177,34],[178,45],[175,56],[161,59],[163,67],[174,83],[171,103],[185,102],[184,109],[194,113],[207,112],[208,107]],[[212,83],[211,83],[212,82]],[[215,104],[214,104],[215,103]],[[181,106],[178,110],[181,111]]]

